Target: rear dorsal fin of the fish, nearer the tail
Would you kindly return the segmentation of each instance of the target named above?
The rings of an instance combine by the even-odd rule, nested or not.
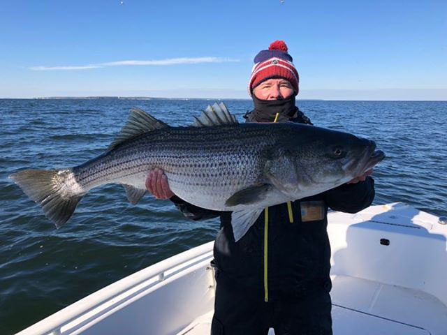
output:
[[[132,137],[165,127],[168,127],[168,125],[163,121],[155,119],[144,110],[140,110],[140,108],[132,108],[126,124],[117,137],[115,137],[115,140],[109,145],[108,150],[112,150],[118,144],[129,140]]]

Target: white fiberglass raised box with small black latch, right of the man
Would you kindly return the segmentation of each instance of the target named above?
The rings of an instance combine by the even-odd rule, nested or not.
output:
[[[447,227],[436,216],[398,203],[329,221],[333,276],[419,290],[447,305]]]

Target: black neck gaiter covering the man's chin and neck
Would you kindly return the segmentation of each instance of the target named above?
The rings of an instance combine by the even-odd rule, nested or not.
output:
[[[281,100],[261,100],[252,96],[254,110],[251,114],[256,122],[273,122],[278,115],[277,122],[286,122],[291,119],[297,108],[295,107],[295,95]]]

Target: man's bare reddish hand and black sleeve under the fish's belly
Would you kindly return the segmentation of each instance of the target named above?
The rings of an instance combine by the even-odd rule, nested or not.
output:
[[[219,211],[212,211],[211,209],[205,209],[194,206],[189,202],[186,202],[170,190],[168,184],[168,178],[164,174],[163,170],[154,169],[149,172],[146,179],[146,188],[149,193],[155,196],[157,199],[169,199],[175,204],[175,207],[183,213],[186,218],[190,218],[194,221],[206,220],[207,218],[216,218],[220,215]]]

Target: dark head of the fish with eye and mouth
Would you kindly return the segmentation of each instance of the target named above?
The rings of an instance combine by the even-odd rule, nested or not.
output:
[[[293,159],[300,191],[316,194],[372,169],[385,157],[372,140],[340,131],[306,126],[296,136]],[[290,151],[290,149],[289,149]]]

